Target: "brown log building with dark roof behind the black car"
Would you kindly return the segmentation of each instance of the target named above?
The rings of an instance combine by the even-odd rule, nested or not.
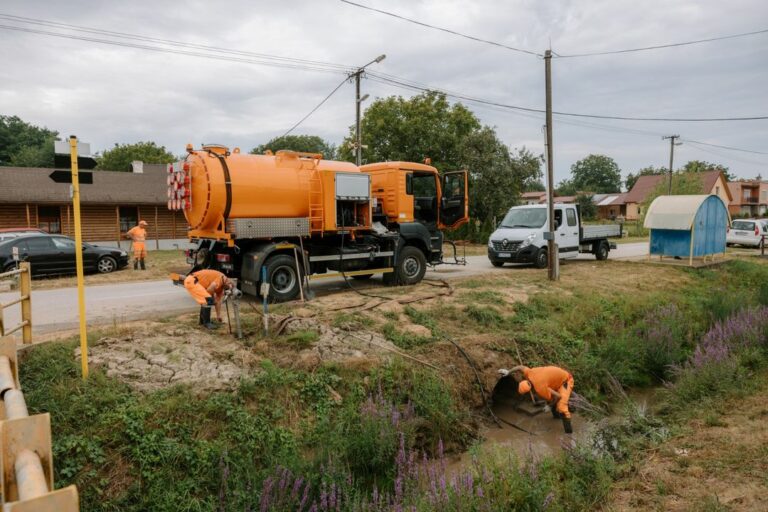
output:
[[[149,223],[147,249],[187,246],[187,222],[167,207],[167,165],[136,163],[133,172],[92,171],[80,185],[83,241],[128,249],[123,234],[140,219]],[[53,169],[0,167],[0,229],[39,228],[73,236],[68,183],[55,183]]]

